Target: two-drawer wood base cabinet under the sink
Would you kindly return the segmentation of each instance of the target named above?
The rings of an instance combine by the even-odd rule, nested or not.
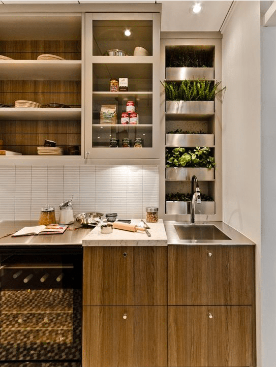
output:
[[[253,246],[168,246],[168,366],[256,365]]]

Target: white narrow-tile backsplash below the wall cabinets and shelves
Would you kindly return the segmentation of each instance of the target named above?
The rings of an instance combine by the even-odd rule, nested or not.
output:
[[[38,220],[43,206],[73,197],[74,213],[116,212],[145,218],[158,206],[157,166],[0,166],[0,220]]]

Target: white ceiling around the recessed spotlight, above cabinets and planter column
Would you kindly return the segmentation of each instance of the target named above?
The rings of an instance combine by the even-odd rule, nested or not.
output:
[[[191,7],[200,2],[203,10],[192,14]],[[155,0],[0,0],[0,4],[95,4],[95,3],[155,3]],[[157,0],[162,3],[162,32],[217,32],[227,15],[232,1],[171,1]],[[1,8],[0,8],[1,9]]]

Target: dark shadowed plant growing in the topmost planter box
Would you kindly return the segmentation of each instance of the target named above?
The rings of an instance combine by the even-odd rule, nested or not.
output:
[[[212,68],[214,50],[199,50],[191,46],[166,48],[167,68]]]

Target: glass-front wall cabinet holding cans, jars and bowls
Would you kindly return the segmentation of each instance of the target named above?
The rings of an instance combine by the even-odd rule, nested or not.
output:
[[[86,158],[159,158],[159,13],[88,13],[85,27]]]

